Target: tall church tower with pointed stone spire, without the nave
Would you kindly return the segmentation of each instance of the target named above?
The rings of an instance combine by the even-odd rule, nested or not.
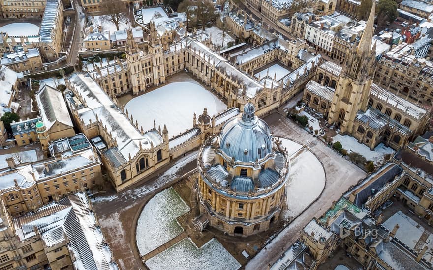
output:
[[[367,24],[358,46],[343,64],[328,122],[340,127],[341,133],[353,132],[353,121],[359,110],[366,111],[370,86],[376,69],[376,44],[371,48],[376,1],[372,1]]]

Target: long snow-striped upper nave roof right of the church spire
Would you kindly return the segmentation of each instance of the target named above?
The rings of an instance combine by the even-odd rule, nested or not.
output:
[[[397,96],[377,84],[371,84],[370,95],[382,102],[385,102],[387,106],[396,108],[403,114],[408,115],[417,121],[421,120],[427,114],[426,109]]]

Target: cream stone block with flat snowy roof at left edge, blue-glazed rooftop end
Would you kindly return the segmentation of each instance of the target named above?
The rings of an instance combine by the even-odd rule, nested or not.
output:
[[[9,167],[0,171],[0,198],[12,216],[103,184],[101,162],[83,134],[57,140],[48,148],[51,158],[30,164],[8,158]]]

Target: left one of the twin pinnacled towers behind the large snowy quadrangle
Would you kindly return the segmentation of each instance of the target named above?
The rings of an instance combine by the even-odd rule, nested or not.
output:
[[[132,93],[137,95],[139,92],[145,90],[144,74],[140,61],[143,52],[139,50],[137,44],[135,43],[134,37],[132,36],[132,30],[127,29],[126,33],[126,62],[128,63],[129,67]]]

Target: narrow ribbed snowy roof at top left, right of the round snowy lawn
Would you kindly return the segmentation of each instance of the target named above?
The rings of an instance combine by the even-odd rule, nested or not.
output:
[[[47,0],[44,15],[42,17],[41,28],[39,30],[41,42],[53,42],[53,37],[56,34],[55,29],[59,16],[59,8],[59,0]]]

